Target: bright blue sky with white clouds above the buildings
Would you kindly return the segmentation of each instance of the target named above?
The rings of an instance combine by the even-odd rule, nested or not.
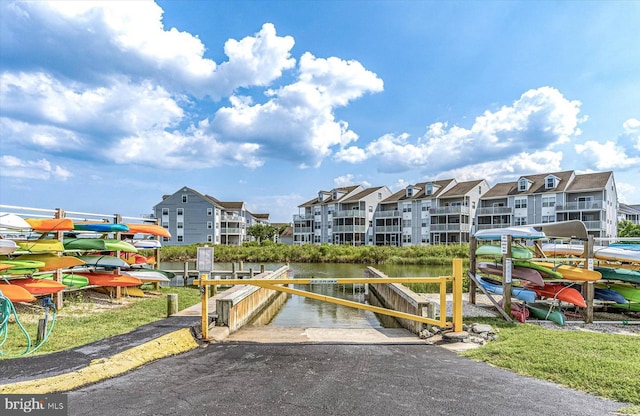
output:
[[[0,2],[0,203],[289,222],[319,190],[612,170],[640,203],[640,2]]]

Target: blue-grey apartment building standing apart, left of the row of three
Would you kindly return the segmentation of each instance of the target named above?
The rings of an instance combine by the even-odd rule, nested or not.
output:
[[[244,202],[222,202],[186,186],[164,195],[153,210],[171,232],[170,239],[164,238],[171,245],[240,245],[251,240],[247,228],[269,223],[269,214],[252,214]]]

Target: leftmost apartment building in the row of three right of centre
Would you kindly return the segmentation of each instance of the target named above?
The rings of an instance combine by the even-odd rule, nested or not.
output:
[[[373,244],[373,215],[391,195],[386,186],[362,185],[320,191],[318,197],[298,206],[293,217],[294,244]]]

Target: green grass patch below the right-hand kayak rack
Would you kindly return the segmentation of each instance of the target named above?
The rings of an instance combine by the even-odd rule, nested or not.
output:
[[[475,322],[475,320],[474,320]],[[463,353],[518,374],[640,405],[640,338],[484,320],[499,338]],[[635,407],[630,414],[640,411]]]

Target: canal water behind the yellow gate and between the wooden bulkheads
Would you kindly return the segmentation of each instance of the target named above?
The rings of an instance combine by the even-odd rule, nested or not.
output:
[[[281,263],[264,264],[266,270],[276,270]],[[161,269],[182,270],[183,263],[162,263]],[[252,268],[260,270],[260,264],[244,263],[244,270]],[[367,265],[363,264],[334,264],[334,263],[292,263],[289,265],[292,277],[295,278],[350,278],[365,277]],[[424,277],[443,276],[451,274],[451,266],[415,266],[415,265],[373,265],[387,276]],[[189,265],[190,270],[195,265]],[[231,263],[216,263],[215,270],[231,270]],[[174,284],[182,284],[182,279],[176,277]],[[364,288],[357,285],[298,285],[293,287],[319,293],[326,296],[366,303]],[[286,302],[269,317],[267,322],[274,327],[312,327],[312,328],[380,328],[397,326],[395,320],[387,316],[379,316],[373,312],[350,308],[335,303],[323,302],[298,295],[287,295]]]

